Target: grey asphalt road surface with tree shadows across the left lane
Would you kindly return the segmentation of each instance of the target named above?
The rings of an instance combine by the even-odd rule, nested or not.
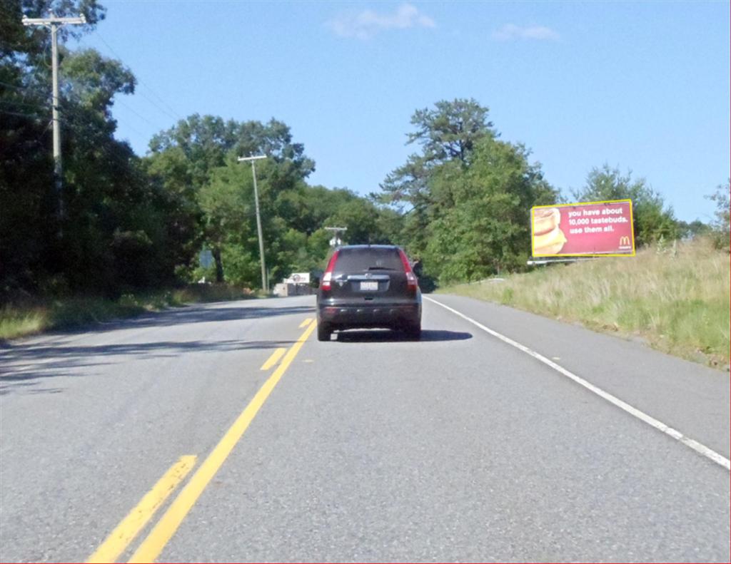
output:
[[[727,373],[433,298],[684,437],[433,302],[170,310],[0,347],[0,560],[730,561]]]

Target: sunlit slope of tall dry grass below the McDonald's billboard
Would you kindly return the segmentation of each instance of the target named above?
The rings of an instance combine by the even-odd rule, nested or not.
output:
[[[646,248],[635,258],[553,264],[439,291],[498,302],[639,338],[715,367],[729,364],[730,263],[708,240]]]

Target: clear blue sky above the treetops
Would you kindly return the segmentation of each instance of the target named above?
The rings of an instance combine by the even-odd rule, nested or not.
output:
[[[566,194],[607,162],[708,221],[730,175],[726,1],[102,4],[81,45],[140,80],[114,107],[139,154],[180,116],[274,117],[311,183],[367,194],[416,150],[414,110],[460,97]]]

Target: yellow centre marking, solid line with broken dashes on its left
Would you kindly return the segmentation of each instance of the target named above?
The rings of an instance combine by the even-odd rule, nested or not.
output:
[[[229,430],[227,430],[223,438],[221,438],[213,451],[211,451],[211,454],[208,454],[208,458],[203,461],[200,468],[196,470],[190,481],[178,494],[178,497],[173,500],[173,503],[170,504],[170,507],[167,508],[167,511],[165,511],[153,527],[150,534],[148,534],[142,544],[137,548],[129,562],[154,562],[168,541],[170,541],[170,538],[173,538],[175,531],[178,530],[183,519],[185,519],[198,498],[200,498],[203,490],[219,471],[229,454],[231,454],[236,443],[238,443],[243,433],[249,427],[249,424],[257,415],[262,405],[264,405],[274,387],[279,383],[289,365],[292,364],[292,360],[295,359],[300,348],[302,348],[305,341],[312,334],[315,327],[317,327],[315,321],[306,321],[309,321],[307,329],[295,341],[295,344],[289,348],[287,353],[284,354],[284,359],[282,359],[279,367],[265,381],[251,402],[249,402],[249,405],[246,405],[246,408],[244,408],[235,422],[229,427]],[[300,327],[302,326],[300,325]],[[277,350],[284,351],[284,349]],[[272,357],[275,355],[276,358],[272,361]],[[277,354],[277,351],[275,351],[272,357],[265,363],[265,366],[270,361],[271,363],[268,367],[276,364],[276,361],[281,357],[281,353]],[[262,366],[262,369],[265,368]],[[140,530],[151,519],[154,511],[159,506],[162,506],[162,503],[173,492],[173,489],[185,478],[194,463],[195,457],[181,457],[165,473],[162,479],[155,484],[153,489],[145,495],[137,507],[113,530],[110,536],[99,546],[99,549],[96,549],[96,552],[89,557],[88,562],[113,562],[121,555],[129,543],[132,542],[135,536],[137,536]]]

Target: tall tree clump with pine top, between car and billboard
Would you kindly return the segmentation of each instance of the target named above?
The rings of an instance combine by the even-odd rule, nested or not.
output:
[[[409,157],[382,185],[380,201],[406,209],[402,240],[424,271],[465,281],[520,269],[530,251],[529,210],[558,193],[523,145],[499,140],[488,108],[437,102],[412,117]]]

